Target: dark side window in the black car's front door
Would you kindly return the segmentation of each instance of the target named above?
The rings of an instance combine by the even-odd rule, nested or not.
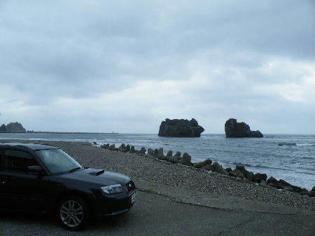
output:
[[[3,167],[6,172],[28,173],[27,167],[38,165],[34,158],[25,151],[6,150],[2,155]]]

